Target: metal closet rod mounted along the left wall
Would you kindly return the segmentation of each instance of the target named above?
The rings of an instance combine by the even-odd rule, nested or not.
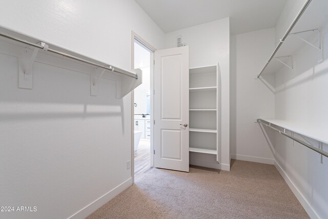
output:
[[[11,35],[8,35],[8,34],[5,34],[5,33],[1,33],[0,32],[0,36],[4,36],[6,38],[13,39],[14,41],[18,41],[20,43],[24,43],[24,44],[27,44],[27,45],[30,45],[30,46],[33,46],[33,47],[44,49],[44,47],[41,46],[41,45],[38,45],[38,44],[35,44],[35,43],[31,43],[31,42],[28,42],[28,41],[24,41],[23,39],[20,39],[20,38],[17,38],[15,36],[11,36]],[[119,73],[119,74],[124,74],[124,75],[127,75],[129,77],[133,77],[135,79],[138,79],[138,75],[137,74],[132,73],[132,72],[129,72],[129,71],[126,71],[126,70],[123,70],[123,69],[116,68],[116,67],[111,66],[111,65],[108,65],[108,66],[100,65],[100,64],[97,64],[97,63],[94,63],[94,62],[87,61],[87,60],[85,60],[83,58],[79,58],[79,57],[76,57],[76,56],[73,56],[73,55],[69,55],[69,54],[66,54],[64,52],[59,52],[57,50],[50,49],[50,48],[48,48],[47,51],[52,52],[52,53],[56,53],[56,54],[59,54],[59,55],[63,55],[65,57],[69,57],[69,58],[72,58],[72,59],[75,59],[77,61],[90,64],[90,65],[93,65],[93,66],[104,68],[104,69],[107,69],[107,70],[110,70],[110,71],[113,71],[113,72],[116,72],[116,73]]]

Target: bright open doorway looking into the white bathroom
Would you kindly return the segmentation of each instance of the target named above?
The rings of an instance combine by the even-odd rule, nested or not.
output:
[[[153,52],[155,49],[132,32],[132,68],[142,70],[142,84],[132,95],[132,178],[153,166]]]

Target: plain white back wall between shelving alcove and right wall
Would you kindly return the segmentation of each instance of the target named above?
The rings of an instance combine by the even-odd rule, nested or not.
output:
[[[262,80],[254,79],[274,50],[274,41],[274,28],[231,37],[230,145],[231,157],[237,160],[274,164],[273,145],[254,123],[256,118],[275,116],[274,92]]]

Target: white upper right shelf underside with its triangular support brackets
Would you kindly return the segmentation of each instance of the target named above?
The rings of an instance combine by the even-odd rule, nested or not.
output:
[[[325,22],[328,21],[328,13],[326,12],[327,8],[328,8],[328,1],[326,0],[312,1],[309,4],[308,8],[306,8],[303,14],[300,16],[299,20],[297,21],[296,25],[292,29],[291,33],[288,35],[288,37],[286,37],[285,41],[282,43],[281,47],[278,49],[274,57],[289,56],[289,57],[281,57],[279,59],[282,62],[286,63],[287,65],[292,66],[291,56],[294,56],[297,53],[299,53],[299,51],[305,46],[306,47],[310,46],[309,44],[306,44],[297,36],[295,36],[295,34],[293,33],[301,32],[298,33],[297,35],[311,43],[317,41],[316,36],[318,34],[318,30],[316,31],[309,31],[309,30],[320,29],[325,25]],[[288,25],[288,27],[289,26],[290,25]],[[316,46],[319,46],[318,42],[314,44]],[[316,50],[314,47],[312,47],[312,49]],[[268,59],[266,59],[265,61],[267,60]],[[265,64],[266,63],[263,63],[263,66]],[[274,74],[278,72],[281,68],[287,68],[287,67],[284,66],[279,61],[277,61],[275,58],[273,58],[271,62],[268,64],[268,66],[264,69],[261,75],[264,76],[265,74]]]

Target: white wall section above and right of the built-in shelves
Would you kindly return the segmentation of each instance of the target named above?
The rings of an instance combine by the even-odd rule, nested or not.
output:
[[[216,65],[221,67],[222,75],[222,164],[230,166],[229,149],[229,49],[230,49],[229,17],[190,28],[165,34],[165,47],[177,46],[177,37],[189,46],[189,67]],[[215,155],[190,154],[192,160],[216,161]],[[198,163],[200,164],[200,163]]]

